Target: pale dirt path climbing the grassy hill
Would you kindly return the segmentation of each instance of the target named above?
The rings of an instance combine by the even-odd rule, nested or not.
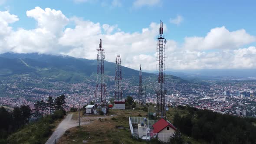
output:
[[[55,139],[61,137],[66,130],[78,126],[78,123],[71,119],[72,115],[73,114],[69,114],[66,116],[66,118],[59,124],[58,128],[53,132],[52,136],[46,141],[46,144],[54,144]]]

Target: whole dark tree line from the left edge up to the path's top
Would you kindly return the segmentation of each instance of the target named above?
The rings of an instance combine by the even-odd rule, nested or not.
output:
[[[66,115],[64,107],[66,106],[65,95],[60,95],[55,99],[49,96],[47,101],[36,101],[34,109],[31,110],[29,105],[21,105],[20,107],[13,108],[13,111],[7,111],[6,108],[0,108],[0,139],[6,139],[10,134],[17,131],[19,128],[28,125],[30,119],[35,117],[37,120],[39,116],[43,118],[46,115],[44,111],[49,110],[49,114],[53,111],[62,111]],[[56,116],[59,118],[58,116]],[[53,118],[54,119],[54,118]]]

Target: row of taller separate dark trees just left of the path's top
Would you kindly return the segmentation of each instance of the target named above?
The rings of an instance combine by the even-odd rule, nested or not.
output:
[[[39,119],[39,115],[43,118],[43,112],[46,110],[49,110],[49,114],[52,114],[53,110],[62,110],[64,114],[66,114],[66,111],[64,110],[64,107],[66,106],[66,97],[65,95],[60,95],[57,98],[53,99],[52,96],[49,96],[47,101],[36,101],[34,104],[34,116],[37,117],[37,120]]]

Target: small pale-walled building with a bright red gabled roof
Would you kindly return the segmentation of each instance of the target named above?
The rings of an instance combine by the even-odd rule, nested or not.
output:
[[[152,126],[154,128],[153,134],[157,135],[158,140],[163,142],[168,142],[174,131],[177,130],[177,128],[175,128],[170,121],[165,121],[164,118],[161,118]]]

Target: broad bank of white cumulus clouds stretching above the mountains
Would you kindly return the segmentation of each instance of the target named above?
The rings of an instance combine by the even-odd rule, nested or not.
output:
[[[159,23],[151,23],[140,32],[126,33],[118,25],[100,24],[82,18],[67,18],[61,11],[36,7],[27,11],[36,20],[35,29],[13,30],[10,23],[19,20],[8,11],[0,11],[0,53],[39,52],[95,59],[99,39],[105,59],[115,62],[121,54],[122,65],[155,70],[156,39]],[[67,27],[68,23],[75,27]],[[167,31],[164,25],[164,32]],[[224,26],[211,29],[205,37],[185,37],[184,43],[167,39],[167,69],[252,69],[256,67],[256,47],[243,48],[256,41],[244,29],[229,31]],[[210,51],[209,51],[210,50]]]

